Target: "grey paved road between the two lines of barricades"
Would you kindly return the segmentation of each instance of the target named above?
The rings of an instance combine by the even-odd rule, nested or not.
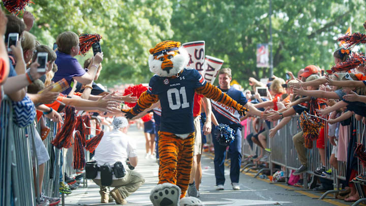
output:
[[[127,198],[126,205],[152,205],[149,194],[158,183],[158,165],[155,160],[144,159],[145,138],[143,132],[132,126],[129,135],[136,138],[139,153],[139,163],[136,171],[140,172],[146,182],[139,190]],[[240,175],[240,190],[231,188],[229,170],[226,167],[225,190],[217,191],[215,186],[215,172],[213,156],[204,154],[202,159],[203,177],[200,187],[201,199],[205,205],[350,205],[343,201],[327,199],[313,199],[321,196],[321,193],[312,191],[287,191],[298,189],[287,185],[269,184],[260,179],[254,179],[252,174]],[[88,182],[88,188],[79,188],[66,196],[65,205],[107,205],[100,203],[99,187],[92,181]]]

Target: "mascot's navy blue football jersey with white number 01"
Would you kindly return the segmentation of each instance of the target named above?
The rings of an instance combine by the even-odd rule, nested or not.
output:
[[[160,131],[174,134],[194,132],[193,97],[195,89],[206,80],[195,69],[185,68],[176,77],[151,77],[148,94],[159,95],[161,111]]]

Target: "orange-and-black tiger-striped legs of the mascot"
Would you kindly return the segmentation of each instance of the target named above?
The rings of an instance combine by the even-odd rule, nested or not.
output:
[[[159,183],[177,185],[180,198],[185,197],[192,170],[195,133],[181,139],[170,132],[159,131]]]

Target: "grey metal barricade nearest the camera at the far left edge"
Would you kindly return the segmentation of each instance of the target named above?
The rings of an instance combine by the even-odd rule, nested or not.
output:
[[[14,202],[14,205],[35,205],[32,155],[29,149],[32,141],[25,133],[25,130],[29,132],[34,126],[19,128],[13,124],[12,105],[7,97],[2,101],[0,116],[2,130],[0,202],[2,205],[10,205],[11,202]]]

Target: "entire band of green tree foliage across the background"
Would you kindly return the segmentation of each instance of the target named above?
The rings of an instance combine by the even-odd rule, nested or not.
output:
[[[147,82],[149,48],[162,40],[204,40],[206,54],[222,58],[233,78],[268,77],[256,68],[256,45],[269,42],[269,1],[220,0],[34,0],[38,40],[52,45],[59,33],[98,33],[105,61],[100,80]],[[274,73],[296,73],[307,65],[329,69],[337,37],[352,24],[363,32],[361,0],[272,0]],[[21,16],[21,15],[20,15]],[[86,57],[92,56],[90,52]],[[86,57],[78,57],[82,63]]]

